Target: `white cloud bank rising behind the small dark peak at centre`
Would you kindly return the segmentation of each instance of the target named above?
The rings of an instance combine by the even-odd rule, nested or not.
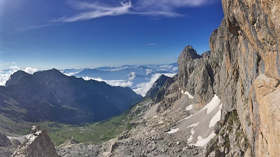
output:
[[[153,86],[153,84],[155,83],[155,81],[162,75],[162,73],[156,73],[156,74],[152,74],[151,79],[149,82],[144,82],[144,83],[139,83],[136,85],[136,89],[133,89],[134,92],[136,92],[137,94],[141,94],[142,96],[145,96],[146,93],[148,92],[149,89],[151,89],[151,87]],[[164,74],[165,76],[168,77],[173,77],[175,75],[175,73],[166,73]]]

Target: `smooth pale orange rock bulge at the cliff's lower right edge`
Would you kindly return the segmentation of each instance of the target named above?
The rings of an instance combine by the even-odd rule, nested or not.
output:
[[[254,81],[259,102],[260,130],[256,137],[258,156],[279,156],[280,146],[280,87],[278,80],[260,74]]]

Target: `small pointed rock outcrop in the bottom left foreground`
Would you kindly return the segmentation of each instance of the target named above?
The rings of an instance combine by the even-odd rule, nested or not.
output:
[[[49,137],[47,130],[40,129],[39,125],[31,128],[30,134],[15,150],[11,157],[58,157],[54,143]]]

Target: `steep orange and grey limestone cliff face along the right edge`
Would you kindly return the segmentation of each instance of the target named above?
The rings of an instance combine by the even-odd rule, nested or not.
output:
[[[279,156],[279,1],[222,0],[235,35],[240,76],[236,108],[255,156]]]

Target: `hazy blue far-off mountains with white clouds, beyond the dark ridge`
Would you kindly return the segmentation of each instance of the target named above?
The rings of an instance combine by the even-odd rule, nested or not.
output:
[[[99,67],[94,69],[60,70],[68,76],[82,77],[85,80],[104,81],[111,86],[130,87],[134,92],[145,96],[153,83],[161,76],[172,77],[178,73],[177,63],[166,65],[122,65],[120,67]]]

